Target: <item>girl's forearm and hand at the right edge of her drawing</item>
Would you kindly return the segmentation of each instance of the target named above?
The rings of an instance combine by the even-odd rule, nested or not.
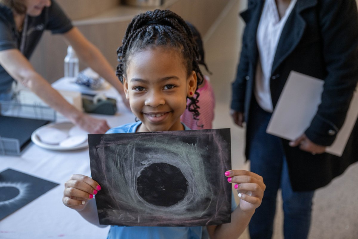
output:
[[[229,173],[228,173],[229,172]],[[225,174],[228,182],[235,183],[240,204],[231,213],[231,223],[207,226],[211,239],[237,239],[246,229],[255,209],[261,205],[266,185],[260,175],[246,170],[230,170]]]

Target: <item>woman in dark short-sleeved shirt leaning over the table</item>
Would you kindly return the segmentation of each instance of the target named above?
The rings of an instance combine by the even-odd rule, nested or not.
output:
[[[81,60],[105,78],[127,103],[123,87],[102,53],[66,16],[55,0],[0,0],[0,100],[11,99],[11,85],[28,87],[54,110],[89,133],[105,133],[105,120],[95,119],[69,104],[37,73],[29,58],[44,30],[62,34]]]

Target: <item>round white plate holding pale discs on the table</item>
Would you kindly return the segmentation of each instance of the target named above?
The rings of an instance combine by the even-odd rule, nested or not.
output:
[[[74,125],[70,122],[63,122],[63,123],[51,123],[51,124],[47,124],[44,125],[40,128],[38,128],[37,130],[35,130],[32,135],[31,135],[31,140],[32,142],[34,142],[34,144],[36,144],[39,147],[45,148],[45,149],[51,149],[51,150],[60,150],[60,151],[66,151],[66,150],[76,150],[76,149],[84,149],[84,148],[88,148],[88,140],[86,140],[85,142],[83,142],[82,144],[76,145],[74,147],[62,147],[59,144],[47,144],[44,143],[40,140],[40,138],[37,135],[37,132],[43,128],[48,128],[48,127],[52,127],[55,129],[59,129],[61,131],[63,131],[64,133],[68,134],[69,130],[73,127]]]

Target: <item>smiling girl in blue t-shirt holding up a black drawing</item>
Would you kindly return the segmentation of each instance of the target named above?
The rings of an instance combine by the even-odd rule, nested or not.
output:
[[[122,43],[117,52],[117,75],[139,121],[107,133],[189,130],[180,122],[180,116],[187,98],[192,101],[189,109],[198,116],[197,100],[193,96],[197,74],[201,72],[197,48],[185,21],[169,10],[148,11],[132,20]],[[229,170],[223,175],[228,177],[228,183],[235,183],[241,198],[240,206],[232,212],[231,223],[207,226],[207,230],[201,226],[111,226],[108,238],[199,239],[208,238],[207,233],[210,238],[237,238],[260,206],[265,185],[261,176],[248,171]],[[90,177],[73,175],[65,183],[62,201],[99,226],[93,198],[98,190],[101,186]]]

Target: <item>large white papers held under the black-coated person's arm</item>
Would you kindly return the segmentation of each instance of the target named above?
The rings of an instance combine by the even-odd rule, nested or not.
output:
[[[323,80],[292,71],[277,102],[266,132],[295,140],[309,127],[321,103]],[[358,93],[354,92],[347,117],[336,139],[326,152],[342,156],[358,117]]]

